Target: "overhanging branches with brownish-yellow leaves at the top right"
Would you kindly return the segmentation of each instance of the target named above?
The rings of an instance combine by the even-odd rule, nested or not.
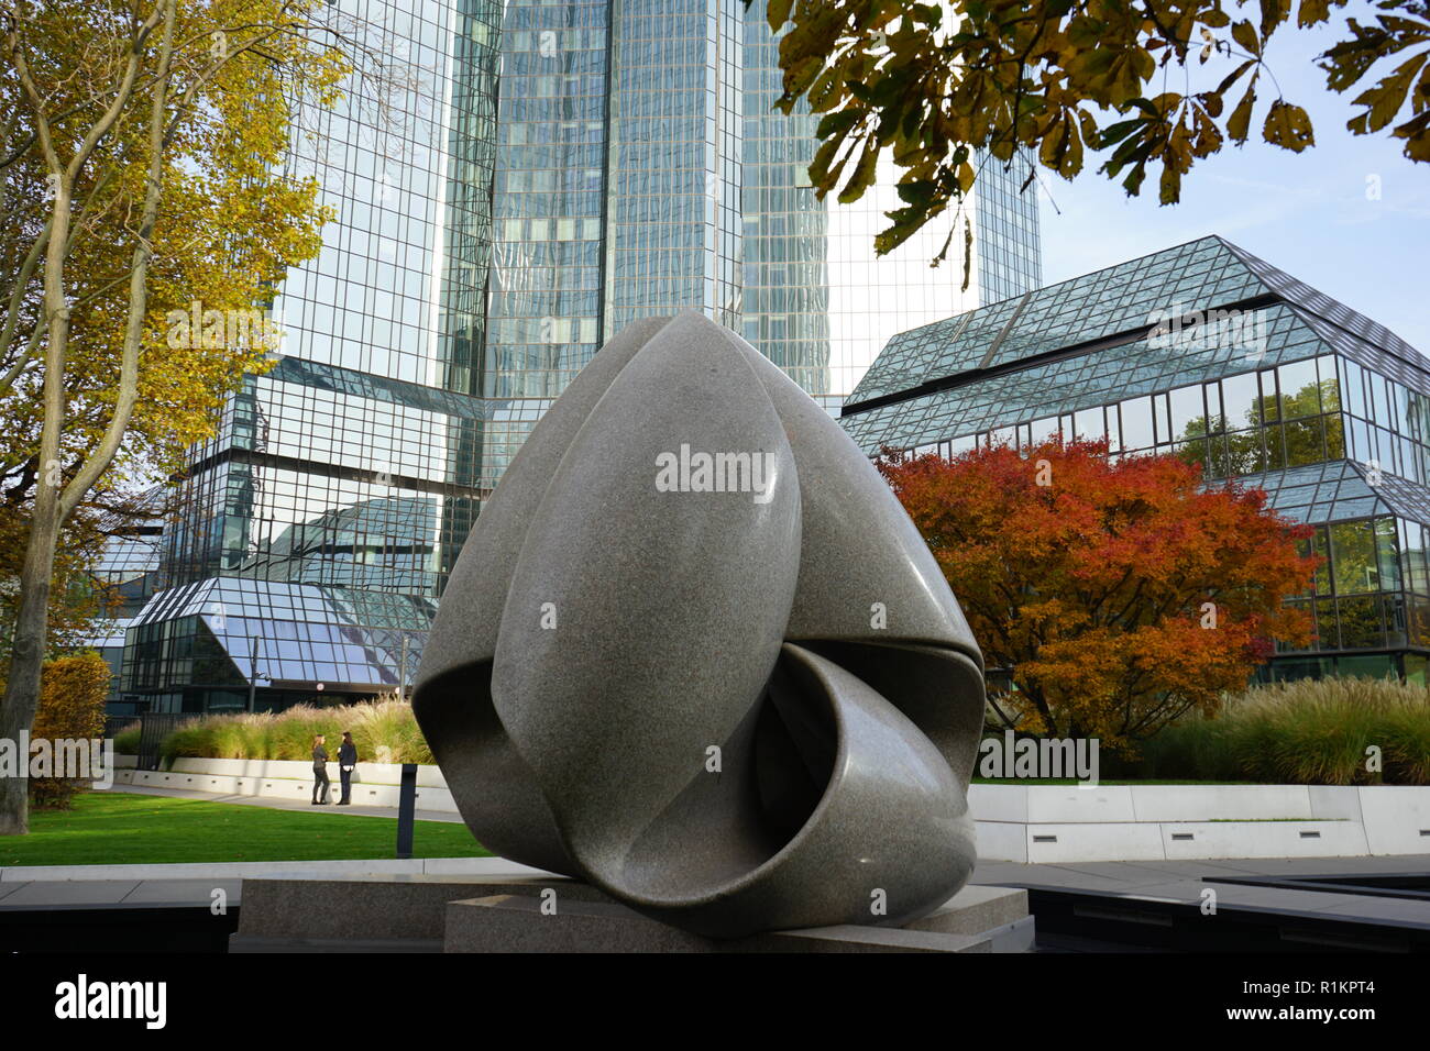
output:
[[[980,152],[1002,163],[1022,152],[1064,179],[1083,170],[1088,153],[1101,153],[1100,170],[1123,176],[1128,194],[1141,190],[1148,166],[1160,167],[1160,199],[1170,204],[1193,163],[1227,142],[1246,143],[1258,113],[1267,143],[1296,153],[1314,144],[1310,117],[1281,97],[1266,61],[1291,6],[769,0],[771,29],[792,23],[779,41],[784,94],[776,104],[789,113],[805,99],[824,114],[809,167],[821,196],[838,190],[842,203],[858,200],[874,182],[879,152],[892,150],[904,169],[898,193],[905,206],[888,213],[892,223],[875,237],[879,253],[972,189]],[[1298,0],[1296,23],[1326,23],[1333,7],[1344,6]],[[1430,162],[1430,3],[1373,6],[1379,13],[1367,23],[1346,19],[1346,37],[1317,64],[1340,93],[1396,56],[1399,64],[1356,96],[1361,112],[1347,127],[1354,134],[1390,129],[1407,157]],[[1268,103],[1260,109],[1258,90]],[[948,242],[938,259],[947,252]]]

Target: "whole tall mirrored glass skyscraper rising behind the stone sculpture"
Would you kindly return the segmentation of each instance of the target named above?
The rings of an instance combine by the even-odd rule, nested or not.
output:
[[[699,309],[835,412],[895,332],[1040,280],[1035,197],[994,163],[968,292],[957,253],[928,266],[940,222],[875,260],[894,190],[815,197],[762,0],[337,7],[416,76],[393,126],[355,83],[295,140],[337,219],[277,292],[276,367],[194,449],[129,625],[123,691],[156,711],[410,678],[483,498],[638,317]]]

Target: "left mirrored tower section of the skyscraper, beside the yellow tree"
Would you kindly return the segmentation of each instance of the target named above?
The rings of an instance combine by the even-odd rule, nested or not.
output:
[[[336,219],[277,290],[277,367],[193,450],[163,589],[126,635],[123,692],[153,711],[243,708],[253,679],[260,708],[396,686],[483,495],[499,7],[335,14],[400,76],[355,77],[295,133]]]

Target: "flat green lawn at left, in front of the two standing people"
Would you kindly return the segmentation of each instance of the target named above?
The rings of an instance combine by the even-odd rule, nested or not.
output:
[[[84,792],[70,811],[31,811],[30,835],[0,837],[7,865],[395,858],[396,818],[306,814],[132,792]],[[486,858],[466,825],[419,821],[416,858]]]

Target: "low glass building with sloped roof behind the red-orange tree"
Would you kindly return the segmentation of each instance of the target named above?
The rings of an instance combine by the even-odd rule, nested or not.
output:
[[[1268,678],[1430,658],[1430,366],[1383,326],[1207,237],[892,339],[842,420],[867,452],[1105,438],[1264,489],[1324,568]]]

